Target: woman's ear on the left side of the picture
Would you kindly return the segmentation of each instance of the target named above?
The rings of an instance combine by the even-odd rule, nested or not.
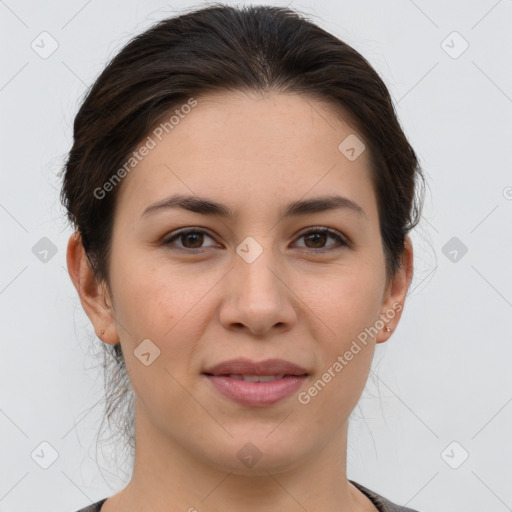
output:
[[[82,307],[94,326],[96,336],[105,343],[119,343],[119,335],[106,283],[99,283],[89,264],[78,232],[68,241],[66,261],[69,276],[75,286]],[[104,331],[104,334],[101,334]]]

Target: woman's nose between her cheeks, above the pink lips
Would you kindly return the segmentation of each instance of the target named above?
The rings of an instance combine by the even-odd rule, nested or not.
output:
[[[239,257],[224,280],[220,321],[228,330],[254,336],[289,330],[297,321],[297,301],[287,272],[267,248],[251,263]]]

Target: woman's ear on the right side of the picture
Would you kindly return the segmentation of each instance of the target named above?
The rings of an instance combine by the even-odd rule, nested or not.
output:
[[[413,247],[409,235],[404,239],[404,252],[400,264],[400,268],[396,271],[395,275],[388,281],[382,299],[382,307],[380,311],[380,318],[384,322],[384,327],[379,331],[376,336],[377,343],[387,341],[398,326],[402,311],[404,309],[405,298],[409,285],[411,284],[413,274]],[[386,326],[391,329],[390,332],[386,331]]]

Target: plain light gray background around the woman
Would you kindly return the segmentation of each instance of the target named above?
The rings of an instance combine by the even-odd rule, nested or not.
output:
[[[191,5],[0,1],[0,511],[73,512],[126,483],[96,451],[99,342],[66,270],[57,173],[107,60]],[[421,512],[512,510],[512,2],[289,5],[381,74],[429,185],[404,314],[352,417],[349,478]],[[43,31],[58,43],[47,58],[31,47]],[[58,453],[48,469],[42,442]]]

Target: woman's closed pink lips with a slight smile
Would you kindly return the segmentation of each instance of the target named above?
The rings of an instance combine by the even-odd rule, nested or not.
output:
[[[249,407],[265,407],[290,396],[308,377],[304,368],[283,359],[260,362],[232,359],[207,369],[204,374],[223,396]],[[247,382],[240,380],[242,375],[273,375],[278,378],[265,382]]]

